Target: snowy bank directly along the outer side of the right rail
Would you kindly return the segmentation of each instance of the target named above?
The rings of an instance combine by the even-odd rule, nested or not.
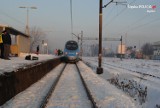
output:
[[[78,63],[81,74],[100,108],[138,108],[134,101],[125,93],[97,76],[82,62]]]

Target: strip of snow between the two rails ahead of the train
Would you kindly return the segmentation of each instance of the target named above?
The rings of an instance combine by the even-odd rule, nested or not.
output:
[[[74,64],[68,64],[46,108],[91,108]]]

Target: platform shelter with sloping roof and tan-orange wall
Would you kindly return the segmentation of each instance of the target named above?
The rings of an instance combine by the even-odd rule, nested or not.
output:
[[[0,25],[0,32],[3,30],[7,30],[11,35],[11,54],[19,56],[20,53],[30,52],[30,36],[7,25]]]

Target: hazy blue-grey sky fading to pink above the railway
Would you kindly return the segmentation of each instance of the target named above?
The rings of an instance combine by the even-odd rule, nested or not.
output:
[[[50,49],[63,49],[67,40],[77,40],[71,35],[71,11],[73,33],[83,31],[84,37],[99,35],[99,0],[1,0],[0,24],[12,26],[24,31],[29,9],[29,27],[41,28],[46,33],[45,39]],[[103,0],[103,5],[110,0]],[[126,0],[114,0],[115,2]],[[115,3],[103,8],[103,35],[107,38],[120,38],[128,46],[141,47],[146,42],[159,41],[160,34],[160,1],[127,0],[127,6]],[[148,6],[143,8],[143,6]],[[154,9],[149,6],[156,6]],[[131,8],[137,7],[137,8]],[[150,11],[150,12],[147,12]],[[152,11],[152,12],[151,12]],[[98,43],[98,41],[85,41]],[[120,42],[104,41],[103,47],[116,46]]]

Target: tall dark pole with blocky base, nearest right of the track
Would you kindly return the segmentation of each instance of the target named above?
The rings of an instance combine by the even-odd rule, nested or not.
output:
[[[103,68],[101,67],[102,63],[102,5],[103,1],[99,1],[99,54],[98,54],[98,67],[97,74],[103,73]]]

